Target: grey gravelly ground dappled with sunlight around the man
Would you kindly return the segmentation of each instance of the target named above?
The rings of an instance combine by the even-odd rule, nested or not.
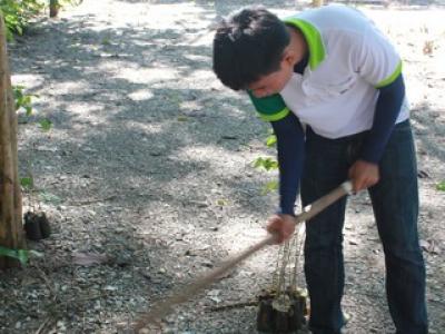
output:
[[[254,2],[279,14],[295,10],[294,1]],[[214,22],[237,3],[85,0],[11,47],[14,84],[39,95],[38,112],[20,118],[28,121],[20,125],[21,173],[30,166],[44,191],[53,234],[30,243],[43,258],[2,273],[0,333],[43,325],[57,333],[123,333],[170,288],[264,236],[276,195],[260,195],[273,176],[251,161],[274,154],[264,145],[268,127],[211,72]],[[445,12],[367,12],[405,60],[431,332],[443,333],[445,193],[436,185],[445,179]],[[49,132],[36,125],[43,117],[53,124]],[[107,259],[80,266],[79,252]],[[276,247],[263,252],[180,307],[162,333],[255,333],[255,307],[209,307],[253,299],[270,283],[276,254]],[[348,207],[345,255],[344,305],[353,314],[345,333],[392,333],[365,194]]]

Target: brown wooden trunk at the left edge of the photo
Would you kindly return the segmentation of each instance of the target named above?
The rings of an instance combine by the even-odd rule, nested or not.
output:
[[[12,96],[6,41],[0,13],[0,246],[23,249],[21,190],[17,157],[17,114]],[[16,266],[12,258],[0,257],[0,268]]]

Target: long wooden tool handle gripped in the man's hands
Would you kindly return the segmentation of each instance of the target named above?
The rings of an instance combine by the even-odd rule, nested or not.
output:
[[[329,194],[320,197],[319,199],[314,202],[310,206],[306,207],[300,215],[295,217],[295,224],[299,224],[301,222],[310,219],[312,217],[314,217],[315,215],[327,208],[329,205],[335,203],[337,199],[349,194],[352,189],[353,186],[350,181],[345,181]],[[218,281],[218,278],[220,278],[224,274],[226,274],[226,272],[234,268],[240,262],[245,261],[254,253],[263,249],[265,246],[276,244],[276,240],[277,240],[276,235],[268,235],[263,240],[243,250],[234,258],[225,261],[219,267],[197,278],[188,286],[180,288],[178,292],[174,293],[170,297],[166,298],[165,301],[156,303],[151,307],[151,311],[141,316],[140,320],[137,322],[135,326],[136,333],[139,333],[139,331],[144,330],[148,324],[156,324],[162,317],[171,313],[175,305],[187,302],[188,299],[194,297],[199,291],[205,289],[212,283]]]

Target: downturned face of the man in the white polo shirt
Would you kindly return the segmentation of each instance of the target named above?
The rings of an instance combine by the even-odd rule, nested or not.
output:
[[[280,62],[280,68],[277,71],[264,76],[259,80],[250,84],[248,89],[257,98],[280,92],[294,72],[294,60],[288,59],[285,55]]]

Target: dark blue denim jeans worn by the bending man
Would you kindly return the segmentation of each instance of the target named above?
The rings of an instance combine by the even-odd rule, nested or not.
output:
[[[366,132],[327,139],[310,128],[301,202],[308,205],[347,179]],[[386,294],[397,334],[427,333],[425,265],[418,245],[418,189],[409,120],[396,125],[379,163],[379,181],[368,189],[386,264]],[[306,224],[305,274],[313,333],[340,333],[345,274],[343,235],[347,198]]]

